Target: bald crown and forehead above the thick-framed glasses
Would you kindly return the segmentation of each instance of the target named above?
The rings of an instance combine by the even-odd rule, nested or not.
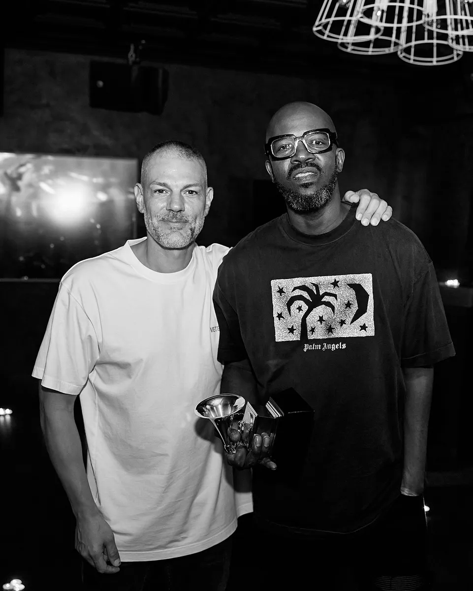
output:
[[[331,131],[336,131],[331,117],[323,109],[320,109],[317,105],[313,105],[313,103],[297,101],[287,103],[287,105],[282,106],[274,113],[266,130],[266,141],[274,135],[294,133],[293,131],[287,130],[289,128],[294,129],[294,125],[297,125],[298,121],[302,122],[308,119],[313,120],[313,125],[307,129],[328,127]],[[303,131],[307,131],[307,129],[303,129]]]

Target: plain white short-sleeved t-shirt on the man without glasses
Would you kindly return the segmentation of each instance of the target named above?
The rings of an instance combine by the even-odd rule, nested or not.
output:
[[[195,246],[185,269],[158,273],[121,248],[74,265],[34,366],[46,388],[80,394],[93,498],[121,560],[193,554],[252,511],[209,420],[219,393],[213,285],[226,246]]]

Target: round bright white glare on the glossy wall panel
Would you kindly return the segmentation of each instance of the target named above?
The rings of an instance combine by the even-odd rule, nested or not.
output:
[[[44,206],[56,222],[74,223],[89,213],[92,198],[86,184],[68,180],[44,199]]]

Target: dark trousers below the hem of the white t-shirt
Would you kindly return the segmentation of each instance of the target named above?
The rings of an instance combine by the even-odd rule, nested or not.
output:
[[[122,562],[115,574],[101,574],[83,561],[83,591],[225,591],[232,538],[179,558]]]

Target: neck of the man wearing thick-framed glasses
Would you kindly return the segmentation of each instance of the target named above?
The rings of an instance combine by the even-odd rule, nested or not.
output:
[[[287,216],[293,228],[304,234],[325,234],[339,226],[345,219],[349,204],[342,203],[338,184],[330,201],[316,212],[297,213],[287,207]]]

